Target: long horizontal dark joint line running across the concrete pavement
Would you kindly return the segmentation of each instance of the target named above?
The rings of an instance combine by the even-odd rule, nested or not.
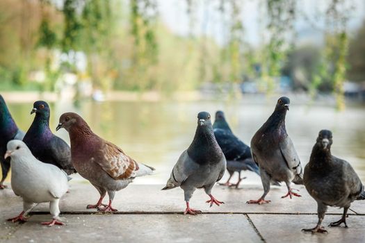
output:
[[[120,212],[98,212],[98,211],[64,211],[61,215],[184,215],[182,211],[164,212],[164,211],[120,211]],[[202,212],[202,215],[317,215],[316,212]],[[29,215],[49,215],[46,211],[33,211]],[[342,213],[328,212],[326,215],[342,215]],[[365,214],[350,214],[351,216],[365,216]]]

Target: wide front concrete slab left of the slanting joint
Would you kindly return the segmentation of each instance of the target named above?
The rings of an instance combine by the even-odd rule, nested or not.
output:
[[[33,215],[7,242],[261,242],[245,215]]]

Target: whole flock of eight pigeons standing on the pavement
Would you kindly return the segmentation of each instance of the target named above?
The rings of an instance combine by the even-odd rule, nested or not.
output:
[[[309,194],[318,203],[318,224],[303,229],[312,233],[325,233],[321,226],[327,206],[343,208],[343,216],[330,226],[347,227],[346,217],[350,203],[364,200],[364,186],[345,160],[332,156],[332,133],[319,132],[304,171],[289,135],[286,133],[285,117],[290,100],[281,97],[268,120],[259,128],[251,140],[251,147],[242,142],[227,124],[222,111],[216,112],[212,124],[209,112],[199,112],[193,142],[172,169],[163,190],[181,187],[184,190],[186,210],[184,214],[197,215],[200,210],[190,208],[189,201],[197,188],[204,188],[209,196],[206,203],[220,206],[213,194],[213,186],[229,172],[226,183],[221,185],[238,187],[243,180],[241,171],[249,170],[261,177],[263,195],[247,203],[269,203],[265,200],[270,185],[284,182],[289,196],[300,196],[293,192],[291,183],[304,184]],[[58,203],[68,191],[70,174],[79,173],[97,189],[100,198],[96,208],[103,212],[117,211],[112,207],[115,192],[127,187],[133,178],[153,174],[154,168],[136,162],[115,144],[92,132],[86,121],[74,112],[60,116],[56,131],[60,128],[70,135],[70,144],[54,135],[49,128],[49,105],[36,101],[31,114],[35,118],[29,130],[20,131],[0,95],[0,162],[2,179],[0,189],[11,165],[11,185],[17,196],[24,201],[23,211],[9,221],[26,221],[26,215],[38,203],[49,202],[52,220],[42,224],[63,225],[60,221]],[[237,183],[230,183],[234,172],[238,172]],[[108,204],[103,204],[108,192]]]

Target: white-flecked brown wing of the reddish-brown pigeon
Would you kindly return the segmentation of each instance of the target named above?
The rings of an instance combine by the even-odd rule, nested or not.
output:
[[[127,156],[122,149],[111,142],[105,141],[102,153],[104,158],[97,162],[109,176],[115,180],[133,178],[139,169],[136,160]]]

